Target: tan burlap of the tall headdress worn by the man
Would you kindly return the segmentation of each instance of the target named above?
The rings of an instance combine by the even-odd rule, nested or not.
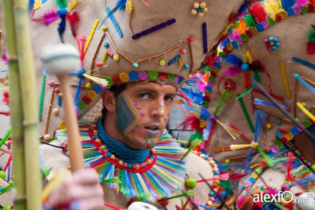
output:
[[[127,57],[135,61],[141,58],[150,57],[152,55],[159,54],[163,51],[170,49],[180,43],[181,40],[186,40],[189,36],[194,38],[192,42],[193,58],[194,58],[194,69],[202,62],[203,54],[203,41],[202,41],[202,23],[206,22],[208,27],[208,46],[214,42],[215,37],[220,31],[226,26],[227,18],[230,13],[237,12],[238,8],[243,3],[242,0],[233,0],[229,2],[229,8],[222,1],[205,1],[207,3],[208,12],[204,14],[202,18],[193,16],[190,11],[193,8],[192,2],[183,1],[152,1],[150,7],[143,4],[141,1],[134,1],[134,16],[131,21],[133,30],[138,33],[142,30],[148,29],[156,24],[165,22],[169,19],[175,18],[176,23],[166,26],[162,30],[156,31],[152,34],[140,37],[138,40],[131,38],[132,33],[129,29],[129,14],[125,11],[117,11],[114,14],[115,19],[123,31],[123,37],[120,38],[113,27],[110,19],[108,19],[105,25],[109,28],[108,31],[112,36],[117,48],[122,51]],[[114,8],[116,1],[107,1],[107,7]],[[47,1],[41,8],[39,8],[34,18],[39,17],[48,9],[58,9],[55,1]],[[98,18],[100,21],[107,16],[105,12],[104,1],[79,1],[76,8],[74,9],[79,12],[81,20],[77,30],[77,35],[86,34],[87,37],[92,29],[95,20]],[[56,22],[43,26],[41,24],[32,23],[32,42],[33,42],[33,54],[35,60],[35,70],[37,76],[37,94],[38,99],[40,98],[41,83],[42,83],[42,70],[43,64],[41,62],[41,50],[44,46],[60,43],[57,27],[60,19]],[[215,27],[214,27],[215,26]],[[89,71],[91,66],[91,60],[95,53],[95,49],[102,36],[102,30],[95,30],[94,36],[91,40],[89,48],[85,54],[84,67],[86,71]],[[69,24],[66,23],[66,30],[63,35],[65,43],[71,43],[76,46],[76,40],[71,35]],[[108,37],[105,36],[104,41],[108,41]],[[110,42],[109,42],[110,43]],[[189,47],[188,45],[183,46],[187,49],[187,53],[183,56],[183,62],[190,63]],[[112,44],[110,43],[109,48],[114,54]],[[179,48],[180,49],[180,48]],[[168,62],[169,60],[176,57],[179,53],[179,49],[172,51],[163,56]],[[105,48],[101,46],[100,51],[97,55],[96,62],[101,61],[102,55]],[[106,66],[101,68],[99,71],[95,71],[96,75],[106,76],[113,75],[120,72],[129,71],[141,71],[141,70],[157,70],[168,73],[180,74],[186,76],[187,70],[178,67],[177,64],[167,67],[167,64],[163,67],[159,66],[159,58],[152,59],[151,61],[140,63],[139,68],[133,69],[131,63],[127,62],[124,58],[120,57],[118,62],[113,62],[111,58],[107,58]],[[96,66],[94,67],[96,68]],[[52,76],[46,78],[45,97],[43,103],[43,118],[39,123],[39,133],[44,134],[44,128],[46,124],[47,110],[49,108],[49,100],[51,96],[51,87],[48,86],[47,81]],[[72,77],[71,83],[77,84],[78,78]],[[55,79],[55,82],[56,79]],[[83,85],[88,82],[88,79],[83,80]],[[75,95],[76,88],[73,88],[73,97]],[[81,89],[80,100],[83,95],[86,95],[86,89]],[[37,104],[39,102],[37,101]],[[35,104],[35,102],[34,102]],[[57,108],[57,95],[54,95],[52,108]],[[101,106],[97,107],[96,112],[100,113]],[[91,119],[93,116],[86,116],[85,119]],[[53,131],[58,128],[58,124],[63,119],[63,110],[59,109],[59,114],[51,114],[49,121],[49,134],[53,134]]]

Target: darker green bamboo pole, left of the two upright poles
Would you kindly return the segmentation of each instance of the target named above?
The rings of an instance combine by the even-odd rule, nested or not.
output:
[[[10,117],[11,132],[13,139],[13,174],[16,195],[14,209],[26,210],[26,188],[25,188],[25,168],[24,168],[24,140],[23,140],[23,113],[20,94],[19,66],[16,56],[13,3],[2,0],[3,17],[5,23],[5,34],[7,40],[7,53],[9,60],[9,85],[10,85]]]

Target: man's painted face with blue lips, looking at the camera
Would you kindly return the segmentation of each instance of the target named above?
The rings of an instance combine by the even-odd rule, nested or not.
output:
[[[115,121],[126,146],[154,147],[166,127],[175,96],[173,85],[153,82],[135,83],[118,96]]]

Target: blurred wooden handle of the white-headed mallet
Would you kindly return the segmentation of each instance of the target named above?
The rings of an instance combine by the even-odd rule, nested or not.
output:
[[[68,149],[71,171],[75,172],[84,169],[83,152],[80,143],[79,128],[77,124],[77,116],[73,107],[73,100],[71,97],[71,89],[69,85],[68,73],[57,75],[61,90],[63,92],[63,103],[65,110],[65,120],[68,135]]]

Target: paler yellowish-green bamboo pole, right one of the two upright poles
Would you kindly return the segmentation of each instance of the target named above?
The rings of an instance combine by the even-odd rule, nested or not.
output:
[[[8,1],[8,0],[7,0]],[[36,80],[33,63],[28,1],[13,0],[15,40],[22,94],[27,209],[41,210]]]

